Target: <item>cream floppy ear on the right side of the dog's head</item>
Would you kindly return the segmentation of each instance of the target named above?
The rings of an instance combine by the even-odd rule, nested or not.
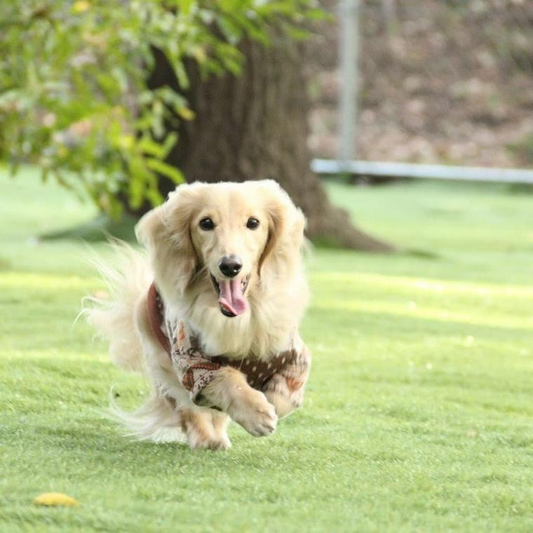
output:
[[[304,244],[304,213],[274,180],[257,184],[269,214],[269,238],[259,261],[259,274],[267,264],[277,274],[292,273],[300,263]]]

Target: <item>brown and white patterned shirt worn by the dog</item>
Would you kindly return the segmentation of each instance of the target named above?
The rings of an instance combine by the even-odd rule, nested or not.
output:
[[[299,337],[292,338],[290,349],[267,361],[255,358],[230,359],[205,356],[198,338],[186,321],[171,324],[165,319],[165,306],[156,285],[148,291],[148,318],[159,344],[168,353],[180,382],[194,403],[201,403],[201,390],[212,382],[222,367],[243,372],[248,384],[259,391],[283,391],[295,407],[303,398],[303,386],[309,375],[310,356]]]

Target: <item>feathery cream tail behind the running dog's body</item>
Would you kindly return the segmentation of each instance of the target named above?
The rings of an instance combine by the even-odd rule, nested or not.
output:
[[[101,259],[91,259],[107,285],[109,295],[87,296],[81,313],[97,335],[109,341],[109,356],[125,370],[141,371],[142,344],[135,327],[135,309],[147,294],[153,274],[147,259],[122,241],[112,241],[113,267]]]

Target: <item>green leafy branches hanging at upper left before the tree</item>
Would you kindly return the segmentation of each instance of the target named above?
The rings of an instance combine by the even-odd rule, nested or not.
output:
[[[238,74],[243,37],[267,43],[269,25],[318,13],[309,0],[1,2],[0,158],[37,163],[112,214],[118,196],[155,205],[158,175],[184,180],[164,162],[166,123],[194,119],[182,94],[147,86],[155,50],[186,90],[187,60]]]

